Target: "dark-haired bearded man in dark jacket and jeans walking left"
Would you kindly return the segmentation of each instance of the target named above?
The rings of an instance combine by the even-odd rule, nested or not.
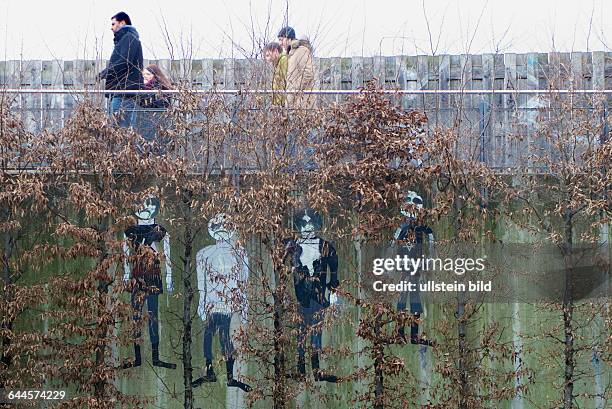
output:
[[[115,14],[111,17],[111,30],[115,33],[115,48],[98,79],[106,80],[107,90],[142,89],[142,46],[130,17],[122,11]],[[110,113],[118,115],[119,126],[136,124],[137,95],[108,93],[106,97],[110,98]]]

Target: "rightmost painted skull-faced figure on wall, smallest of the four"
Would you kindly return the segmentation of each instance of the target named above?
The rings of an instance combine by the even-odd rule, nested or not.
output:
[[[404,204],[400,210],[404,216],[404,222],[395,231],[394,239],[399,245],[399,252],[407,254],[412,258],[420,258],[423,255],[424,244],[427,243],[429,246],[430,254],[433,251],[434,235],[433,230],[422,223],[419,220],[419,211],[423,209],[423,198],[414,191],[409,191],[406,194]],[[423,313],[423,303],[421,302],[421,294],[418,291],[418,282],[420,279],[420,271],[417,271],[414,275],[408,275],[404,277],[408,281],[417,284],[417,291],[411,291],[410,296],[408,293],[403,292],[397,303],[397,309],[400,311],[406,310],[408,297],[410,297],[410,311],[417,320],[420,319]],[[405,339],[405,329],[399,328],[399,335]],[[414,323],[410,326],[410,343],[433,346],[434,343],[431,340],[425,339],[419,335],[419,324]]]

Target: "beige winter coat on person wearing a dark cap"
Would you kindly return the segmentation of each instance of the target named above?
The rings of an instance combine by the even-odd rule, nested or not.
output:
[[[307,91],[314,88],[314,64],[312,47],[308,40],[294,40],[287,63],[287,90]],[[288,94],[289,108],[313,108],[316,97],[313,94]]]

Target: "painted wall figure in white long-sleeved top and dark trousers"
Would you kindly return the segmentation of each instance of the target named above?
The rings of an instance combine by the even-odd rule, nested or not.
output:
[[[198,290],[200,302],[198,314],[204,322],[205,373],[193,381],[193,386],[205,382],[216,382],[213,369],[212,342],[219,333],[221,352],[225,359],[227,386],[249,392],[251,387],[234,377],[236,351],[230,336],[232,316],[238,313],[246,322],[248,304],[246,284],[248,280],[248,258],[246,251],[236,241],[235,232],[226,227],[224,214],[217,214],[208,223],[208,232],[215,244],[206,246],[196,255]]]

